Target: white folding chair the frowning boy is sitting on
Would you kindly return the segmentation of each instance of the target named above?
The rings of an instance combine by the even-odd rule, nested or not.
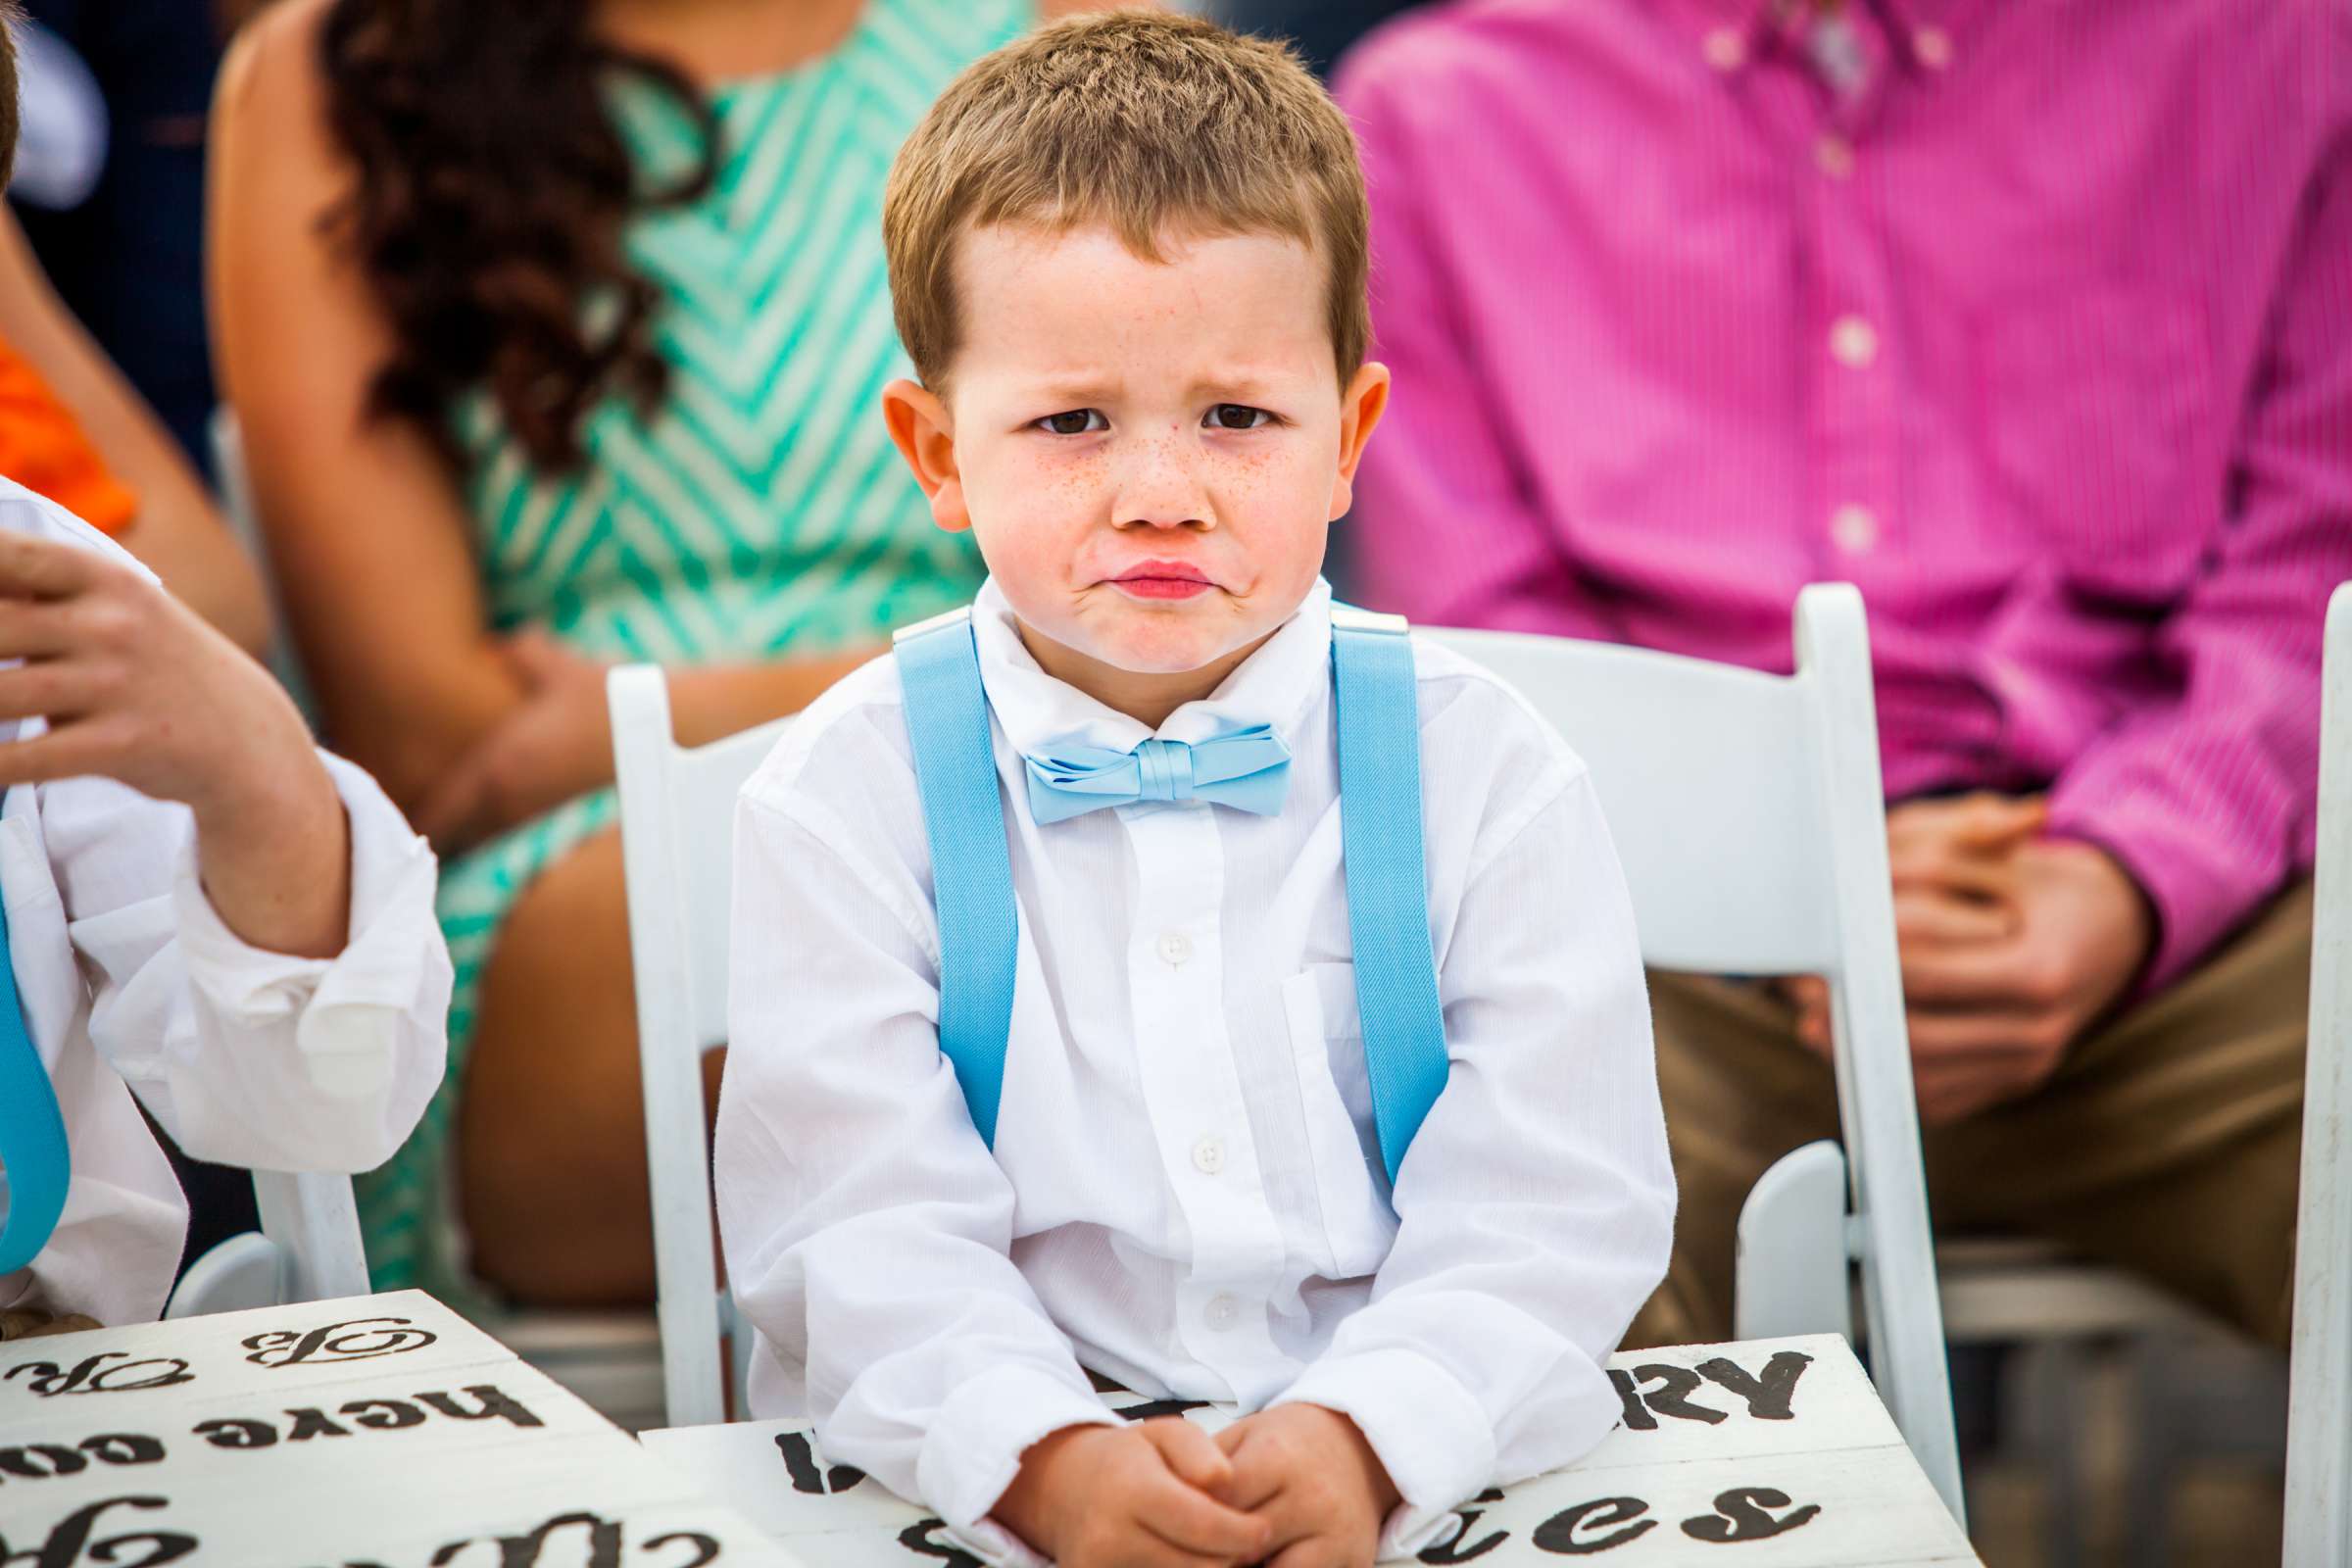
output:
[[[1860,595],[1797,599],[1797,675],[1510,632],[1423,630],[1517,684],[1592,769],[1665,969],[1825,973],[1849,1159],[1783,1159],[1740,1220],[1740,1335],[1849,1333],[1860,1262],[1886,1406],[1952,1514],[1959,1460],[1936,1307]],[[722,1418],[701,1053],[727,1032],[734,792],[781,724],[670,738],[661,670],[609,679],[673,1425]],[[1853,1194],[1849,1215],[1846,1194]],[[736,1333],[741,1354],[748,1333]],[[736,1385],[741,1389],[741,1382]]]

